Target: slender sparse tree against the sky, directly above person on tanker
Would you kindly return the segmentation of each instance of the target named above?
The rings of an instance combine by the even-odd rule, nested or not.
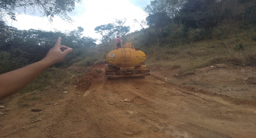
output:
[[[125,35],[130,32],[130,26],[125,26],[126,18],[118,20],[115,19],[115,31],[117,32],[118,36],[122,36],[122,39],[125,40]]]

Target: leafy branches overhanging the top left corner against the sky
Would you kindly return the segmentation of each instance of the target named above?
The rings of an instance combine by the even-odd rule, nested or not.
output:
[[[55,16],[71,22],[68,12],[72,12],[75,3],[81,0],[1,0],[0,20],[16,20],[19,13],[40,13],[40,16],[47,17],[53,21]]]

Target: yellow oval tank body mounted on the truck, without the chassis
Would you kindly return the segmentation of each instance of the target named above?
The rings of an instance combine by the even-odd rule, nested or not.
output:
[[[106,61],[115,66],[135,66],[146,59],[146,54],[133,48],[119,48],[108,52]]]

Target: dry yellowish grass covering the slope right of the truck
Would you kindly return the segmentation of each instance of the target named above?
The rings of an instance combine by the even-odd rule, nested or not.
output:
[[[180,67],[191,72],[214,64],[256,65],[256,28],[254,25],[236,27],[223,25],[212,32],[212,38],[170,46],[142,48],[147,54],[146,64],[154,69]],[[196,34],[195,32],[191,34]],[[195,36],[194,36],[195,37]],[[191,36],[190,38],[191,39]]]

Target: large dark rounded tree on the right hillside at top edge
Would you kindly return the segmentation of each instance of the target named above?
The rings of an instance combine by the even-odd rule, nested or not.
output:
[[[178,15],[177,24],[184,25],[184,31],[204,28],[205,32],[215,27],[230,15],[230,10],[222,9],[222,1],[216,0],[187,0]]]

